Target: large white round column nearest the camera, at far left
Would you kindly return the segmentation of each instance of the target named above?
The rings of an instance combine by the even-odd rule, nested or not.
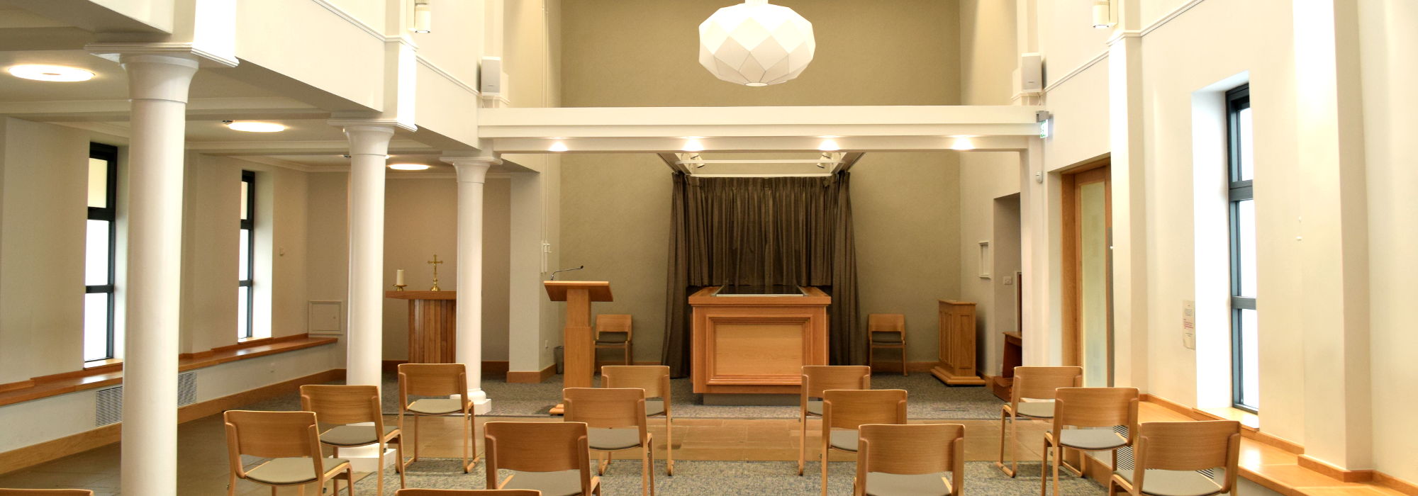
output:
[[[183,135],[197,60],[122,55],[132,98],[122,490],[177,495]]]

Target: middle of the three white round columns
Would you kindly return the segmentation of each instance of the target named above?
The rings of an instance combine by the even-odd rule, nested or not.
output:
[[[350,276],[345,383],[380,385],[384,346],[384,162],[394,125],[330,120],[350,142]]]

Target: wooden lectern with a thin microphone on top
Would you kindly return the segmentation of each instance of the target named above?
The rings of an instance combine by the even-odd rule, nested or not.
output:
[[[562,387],[591,387],[596,357],[591,337],[591,302],[610,302],[611,283],[605,281],[547,281],[546,295],[566,302],[566,326],[562,327],[566,374]],[[560,414],[562,405],[552,408]]]

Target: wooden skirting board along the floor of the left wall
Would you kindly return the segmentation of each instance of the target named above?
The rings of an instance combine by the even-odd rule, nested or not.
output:
[[[255,390],[225,395],[216,400],[194,402],[177,408],[177,422],[187,422],[223,411],[272,398],[282,394],[294,394],[302,384],[322,384],[345,378],[343,368],[332,368],[322,373],[296,377],[284,383],[258,387]],[[28,445],[0,453],[0,473],[14,472],[68,455],[85,452],[94,448],[118,442],[123,424],[111,424],[101,428],[67,435],[58,439]]]

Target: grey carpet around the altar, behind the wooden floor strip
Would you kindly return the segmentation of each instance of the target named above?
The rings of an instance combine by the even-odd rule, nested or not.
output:
[[[593,378],[600,384],[600,378]],[[693,393],[688,378],[669,381],[674,395],[675,418],[797,418],[798,407],[736,407],[702,405],[700,395]],[[929,373],[873,374],[872,388],[906,390],[906,415],[917,419],[997,419],[1004,404],[984,387],[950,387],[937,381]],[[553,376],[539,384],[510,384],[506,380],[484,378],[482,390],[492,398],[489,417],[545,417],[560,402],[562,376]],[[384,412],[398,414],[398,378],[384,374]],[[284,397],[258,402],[254,410],[299,410],[299,397]],[[250,407],[248,407],[250,408]]]

